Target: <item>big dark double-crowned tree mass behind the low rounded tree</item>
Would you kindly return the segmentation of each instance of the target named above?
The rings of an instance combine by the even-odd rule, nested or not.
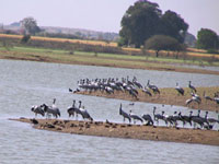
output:
[[[136,47],[140,47],[145,40],[159,34],[169,35],[183,43],[188,28],[178,14],[169,10],[162,15],[159,5],[148,0],[139,0],[129,7],[120,24],[122,43],[132,44]]]

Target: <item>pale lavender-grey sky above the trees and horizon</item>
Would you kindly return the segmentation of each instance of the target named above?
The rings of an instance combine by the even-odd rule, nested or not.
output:
[[[219,35],[219,0],[150,0],[164,13],[176,12],[197,36],[203,28]],[[102,32],[120,30],[120,20],[136,0],[0,0],[0,24],[33,16],[39,26],[60,26]]]

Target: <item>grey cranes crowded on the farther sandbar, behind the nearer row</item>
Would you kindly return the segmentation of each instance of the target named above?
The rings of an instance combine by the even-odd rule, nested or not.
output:
[[[142,91],[148,96],[152,96],[153,94],[160,95],[161,93],[157,85],[150,83],[150,80],[148,80],[147,85],[143,86],[140,82],[138,82],[136,77],[134,77],[132,80],[129,80],[129,77],[122,78],[120,81],[118,80],[118,78],[95,80],[81,79],[80,81],[78,81],[78,86],[79,89],[77,89],[76,91],[72,91],[71,89],[69,89],[69,91],[74,93],[80,92],[81,90],[88,91],[90,93],[95,91],[102,91],[107,94],[114,94],[115,91],[119,91],[129,94],[136,99],[138,99],[139,91]],[[199,105],[201,103],[201,97],[197,94],[196,87],[192,85],[192,81],[188,81],[188,87],[191,89],[191,98],[185,101],[185,105],[189,105],[193,102]],[[178,93],[178,95],[185,95],[184,89],[181,87],[177,82],[175,91]],[[214,101],[217,104],[219,104],[219,95],[217,94],[215,94],[215,97],[210,97],[204,92],[203,96],[206,101]]]

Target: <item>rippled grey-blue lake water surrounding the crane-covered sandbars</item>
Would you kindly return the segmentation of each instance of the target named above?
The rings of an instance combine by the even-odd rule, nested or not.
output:
[[[151,114],[154,104],[135,103],[74,95],[68,92],[76,89],[81,78],[122,78],[134,75],[142,84],[151,83],[159,87],[174,87],[178,82],[187,86],[192,80],[195,86],[216,86],[219,75],[175,73],[163,71],[114,69],[104,67],[70,66],[33,61],[0,60],[0,163],[166,163],[166,164],[218,164],[219,147],[155,142],[131,139],[89,137],[50,132],[33,129],[31,125],[8,120],[8,118],[34,117],[32,105],[51,104],[57,98],[61,118],[68,118],[67,107],[72,99],[82,101],[95,120],[122,122],[119,104],[124,109],[136,114]],[[158,106],[158,112],[173,114],[175,109],[188,115],[185,107]],[[194,112],[197,113],[197,112]],[[204,115],[204,113],[201,114]],[[209,116],[217,118],[215,113]],[[39,117],[39,116],[38,116]],[[216,130],[218,127],[216,127]]]

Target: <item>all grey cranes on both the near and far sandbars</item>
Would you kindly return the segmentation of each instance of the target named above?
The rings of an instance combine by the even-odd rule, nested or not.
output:
[[[130,81],[129,77],[122,78],[122,81],[118,79],[95,79],[95,80],[89,80],[89,79],[83,79],[78,81],[78,86],[80,89],[77,89],[74,92],[79,92],[80,90],[93,92],[93,91],[102,91],[106,92],[107,94],[114,94],[114,91],[122,91],[126,92],[129,95],[131,95],[135,98],[138,98],[138,92],[141,90],[143,93],[146,93],[148,96],[152,96],[152,94],[160,94],[160,90],[157,85],[151,84],[150,80],[148,80],[147,85],[143,87],[138,81],[137,78],[134,77],[134,79]],[[188,98],[185,103],[186,105],[191,104],[192,102],[196,102],[197,104],[200,104],[201,98],[197,94],[197,90],[195,86],[192,85],[192,82],[188,81],[188,87],[191,89],[191,95],[192,97]],[[178,95],[184,95],[185,91],[183,87],[176,83],[175,90],[177,91]],[[72,92],[71,89],[69,89],[70,92]],[[206,93],[204,92],[204,98],[206,101],[215,101],[217,104],[219,104],[219,95],[218,93],[215,94],[215,97],[211,98],[210,96],[207,96]],[[43,117],[46,115],[47,118],[54,116],[55,118],[60,117],[60,110],[59,108],[55,105],[56,98],[54,98],[53,104],[46,105],[34,105],[32,106],[31,110],[35,113],[35,117],[37,114],[42,115]],[[128,122],[130,124],[131,120],[134,124],[136,121],[140,121],[141,124],[146,122],[146,125],[149,126],[154,126],[154,122],[159,125],[159,121],[162,120],[166,126],[178,126],[178,121],[183,124],[183,127],[186,124],[189,124],[191,127],[196,125],[199,125],[200,128],[206,128],[206,129],[212,129],[212,126],[215,124],[219,124],[219,116],[218,119],[215,118],[209,118],[208,117],[208,112],[206,112],[205,117],[200,116],[200,110],[198,110],[197,115],[193,115],[193,112],[189,113],[189,115],[182,115],[181,112],[174,112],[173,115],[165,115],[165,112],[163,110],[161,114],[155,113],[157,107],[153,107],[153,115],[150,116],[149,114],[142,114],[141,116],[134,114],[131,110],[129,113],[125,112],[123,109],[123,106],[120,104],[119,107],[119,115],[123,116],[124,122],[127,119]],[[76,105],[76,101],[73,101],[72,105],[67,108],[67,113],[69,117],[73,117],[78,119],[78,115],[81,116],[84,120],[90,120],[93,121],[93,118],[89,114],[89,112],[82,106],[82,102],[79,101],[79,105]]]

